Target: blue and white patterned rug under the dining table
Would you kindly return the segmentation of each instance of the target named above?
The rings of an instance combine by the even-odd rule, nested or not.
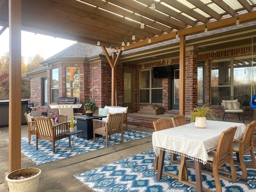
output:
[[[156,180],[153,170],[155,153],[149,150],[126,159],[119,160],[100,168],[75,175],[85,185],[96,192],[194,192],[195,188],[181,184],[177,179],[162,175],[162,180]],[[250,163],[250,155],[246,154],[245,162]],[[178,174],[179,164],[170,163],[170,157],[165,159],[164,170]],[[241,171],[238,170],[238,174]],[[222,191],[225,192],[255,192],[256,170],[247,168],[248,179],[237,179],[236,182],[220,179]],[[189,180],[195,181],[194,169],[188,168]],[[203,186],[216,191],[214,178],[202,173]]]

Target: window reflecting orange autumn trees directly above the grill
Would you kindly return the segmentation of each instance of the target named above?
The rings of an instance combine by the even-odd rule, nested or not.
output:
[[[79,67],[66,68],[66,96],[76,97],[76,102],[80,103],[80,81]]]

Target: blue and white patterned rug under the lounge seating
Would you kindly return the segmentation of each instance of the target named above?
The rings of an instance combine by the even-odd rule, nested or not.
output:
[[[124,130],[123,132],[123,142],[128,142],[136,140],[139,138],[152,136],[150,133],[136,131],[136,130]],[[72,136],[73,137],[73,136]],[[72,150],[68,146],[68,138],[55,142],[55,153],[52,152],[52,142],[48,140],[38,140],[38,150],[36,150],[36,139],[34,136],[31,137],[31,144],[28,145],[28,137],[21,138],[21,152],[30,158],[35,164],[40,165],[63,158],[68,158],[70,156],[75,156],[78,154],[83,154],[86,152],[94,151],[106,147],[106,137],[98,137],[95,139],[86,140],[84,138],[74,136],[74,144],[72,145]],[[116,133],[110,136],[108,140],[108,146],[121,143],[121,134]],[[72,139],[71,139],[72,144]],[[58,148],[58,150],[57,150]],[[70,153],[71,152],[71,153]]]

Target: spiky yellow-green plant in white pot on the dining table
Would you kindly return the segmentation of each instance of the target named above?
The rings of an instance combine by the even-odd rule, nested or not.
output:
[[[198,128],[206,128],[206,118],[216,120],[215,116],[214,110],[204,104],[193,109],[190,114],[190,122],[195,122],[195,126]]]

